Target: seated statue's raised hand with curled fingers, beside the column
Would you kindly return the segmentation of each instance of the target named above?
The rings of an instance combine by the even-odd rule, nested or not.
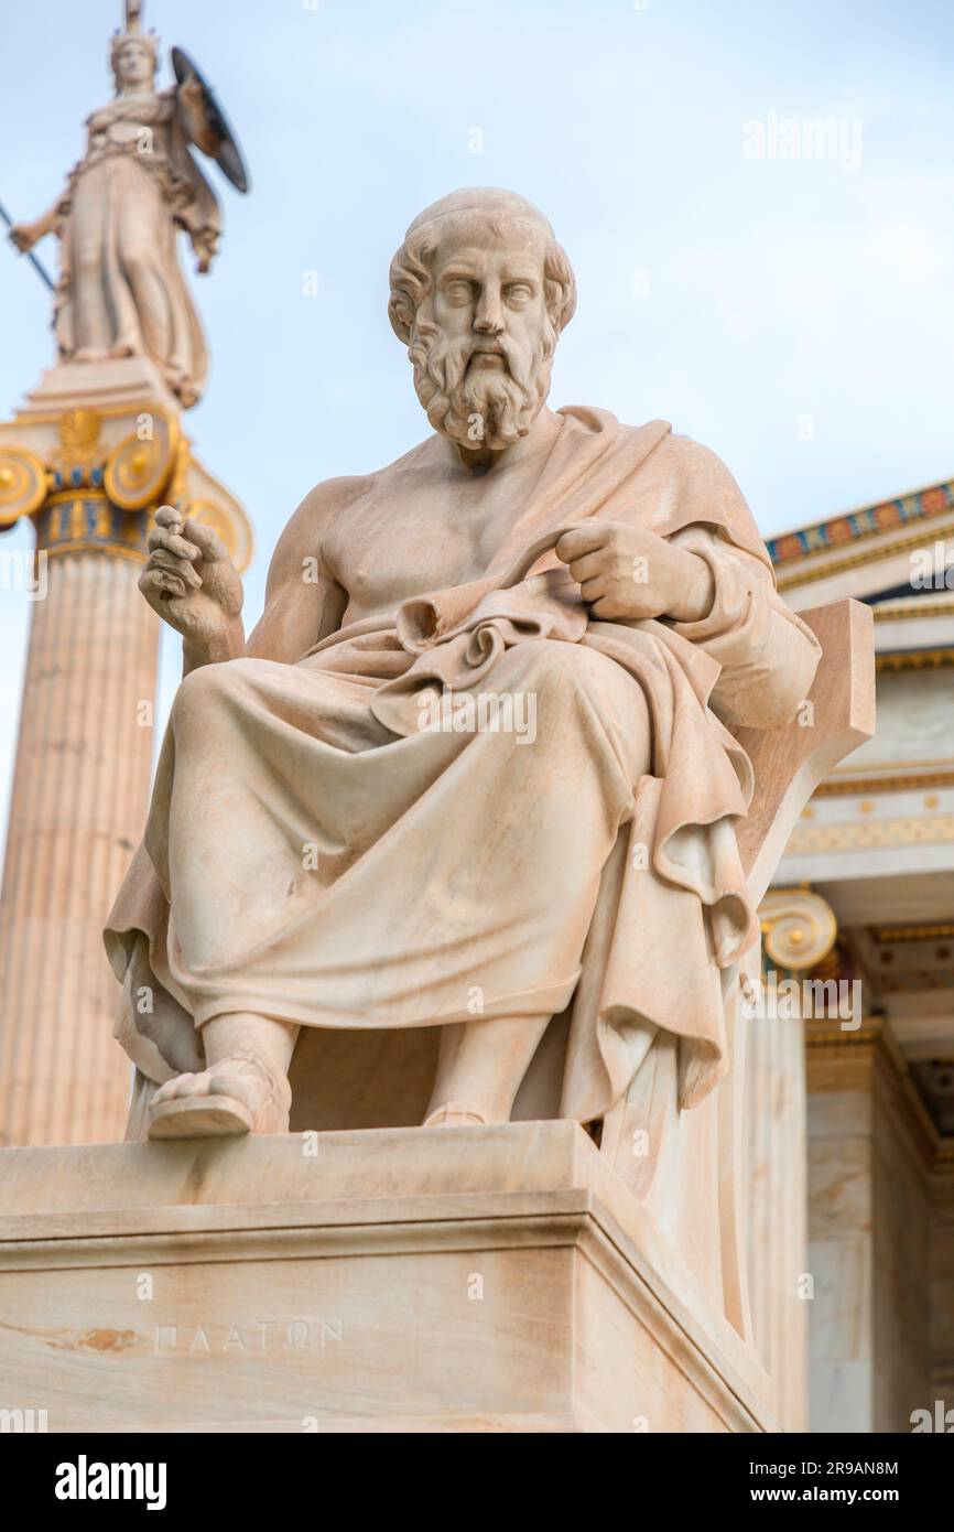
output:
[[[236,647],[242,579],[217,532],[159,506],[139,590],[153,611],[202,659]]]

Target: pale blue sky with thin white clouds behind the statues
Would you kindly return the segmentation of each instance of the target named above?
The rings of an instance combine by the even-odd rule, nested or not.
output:
[[[110,95],[113,0],[8,0],[0,199],[40,213]],[[954,8],[879,0],[147,0],[214,81],[253,195],[193,288],[213,372],[187,429],[266,558],[319,480],[426,434],[386,317],[387,265],[456,185],[537,202],[579,308],[551,403],[671,420],[714,447],[763,532],[954,472]],[[744,153],[752,124],[835,119],[827,158]],[[858,155],[861,149],[861,156]],[[476,150],[476,152],[475,152]],[[861,162],[858,162],[861,159]],[[52,241],[38,248],[52,267]],[[317,297],[303,273],[317,273]],[[0,250],[0,411],[52,360],[47,296]],[[26,545],[28,529],[3,545]],[[28,602],[0,591],[0,812]],[[164,647],[161,697],[178,673]]]

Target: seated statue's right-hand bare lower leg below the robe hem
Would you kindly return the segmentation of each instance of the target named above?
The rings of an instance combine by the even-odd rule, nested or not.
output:
[[[444,1026],[424,1126],[508,1123],[548,1023],[548,1016],[505,1016]]]

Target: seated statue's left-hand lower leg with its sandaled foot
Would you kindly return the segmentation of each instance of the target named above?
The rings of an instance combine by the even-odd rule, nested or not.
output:
[[[208,1068],[162,1085],[149,1108],[150,1138],[285,1134],[288,1066],[299,1028],[268,1016],[214,1016],[202,1028]]]

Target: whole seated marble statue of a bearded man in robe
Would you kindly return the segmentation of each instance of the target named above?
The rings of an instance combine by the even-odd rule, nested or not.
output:
[[[248,639],[221,539],[156,515],[184,680],[106,931],[130,1131],[286,1132],[297,1080],[328,1105],[302,1128],[505,1123],[557,1025],[524,1117],[628,1102],[655,1144],[726,1074],[738,731],[789,725],[821,648],[712,452],[548,408],[574,306],[537,208],[455,192],[390,267],[432,435],[303,499]],[[372,1086],[403,1105],[349,1117]]]

